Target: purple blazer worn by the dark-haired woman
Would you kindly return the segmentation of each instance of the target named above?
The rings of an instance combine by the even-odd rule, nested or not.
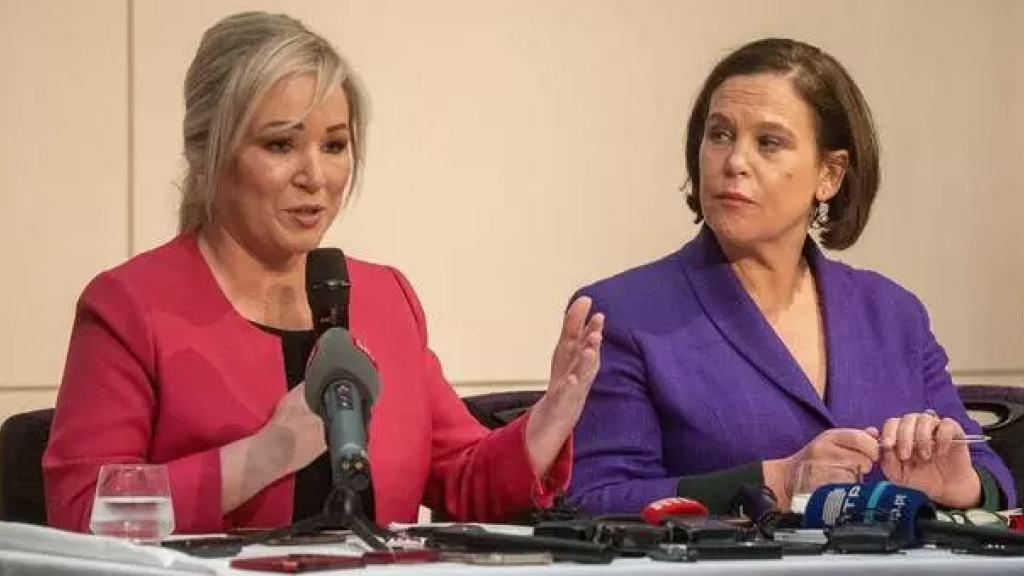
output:
[[[581,290],[605,314],[601,370],[577,425],[570,501],[635,513],[679,477],[786,456],[834,427],[932,408],[980,431],[910,292],[805,247],[827,343],[822,401],[703,227],[680,251]],[[1015,501],[1010,471],[971,447]],[[869,478],[881,478],[879,466]]]

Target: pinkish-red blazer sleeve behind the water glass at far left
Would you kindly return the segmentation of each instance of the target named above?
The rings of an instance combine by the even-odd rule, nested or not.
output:
[[[87,532],[100,466],[148,461],[158,411],[155,364],[144,306],[109,273],[96,277],[78,302],[43,456],[51,526]],[[176,530],[220,532],[220,450],[161,463]]]

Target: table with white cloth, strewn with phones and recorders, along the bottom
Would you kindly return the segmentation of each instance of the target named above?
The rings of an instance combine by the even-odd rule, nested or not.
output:
[[[495,527],[490,527],[494,529]],[[804,537],[814,539],[813,534]],[[820,533],[817,533],[820,537]],[[251,545],[237,558],[285,553],[358,554],[366,550],[355,540],[301,546]],[[795,556],[781,560],[700,561],[694,563],[655,562],[649,559],[618,559],[611,564],[556,563],[534,566],[478,566],[458,563],[379,565],[358,569],[317,571],[316,574],[395,576],[459,576],[488,574],[521,576],[563,574],[571,576],[613,576],[627,574],[800,574],[828,573],[830,576],[908,574],[1022,574],[1024,557],[982,557],[954,553],[936,548],[918,548],[886,556],[824,554]],[[143,575],[184,574],[260,575],[274,574],[239,570],[230,559],[201,559],[159,546],[131,544],[114,538],[72,534],[48,528],[0,523],[0,575]]]

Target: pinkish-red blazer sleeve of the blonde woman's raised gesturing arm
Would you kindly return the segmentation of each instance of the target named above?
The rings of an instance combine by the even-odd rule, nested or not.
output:
[[[537,506],[550,507],[568,484],[571,439],[544,476],[532,472],[526,452],[528,413],[488,430],[466,409],[444,378],[427,343],[423,308],[409,281],[391,270],[413,312],[423,342],[424,385],[430,398],[431,464],[425,503],[459,522],[501,523]]]

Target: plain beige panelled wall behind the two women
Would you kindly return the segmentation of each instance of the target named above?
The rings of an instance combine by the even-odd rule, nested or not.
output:
[[[5,0],[0,416],[50,402],[84,283],[173,234],[184,71],[244,8],[306,19],[364,77],[367,178],[328,242],[410,276],[463,389],[543,379],[575,288],[691,236],[687,107],[716,58],[764,35],[834,52],[876,112],[884,188],[843,259],[915,291],[965,381],[1018,381],[1022,5]]]

